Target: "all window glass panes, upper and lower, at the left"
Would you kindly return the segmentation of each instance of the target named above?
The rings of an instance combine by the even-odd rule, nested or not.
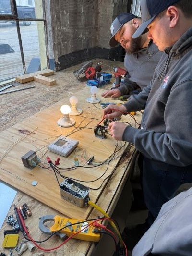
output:
[[[7,9],[10,12],[9,0],[0,0],[0,7],[2,5],[9,7]],[[21,42],[16,21],[0,20],[0,82],[48,67],[44,22],[30,20],[42,19],[42,1],[16,0],[16,5],[18,17],[25,19],[19,21]]]

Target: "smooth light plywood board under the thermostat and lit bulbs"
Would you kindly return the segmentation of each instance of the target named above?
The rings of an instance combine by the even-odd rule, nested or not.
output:
[[[79,131],[74,127],[62,129],[64,135],[72,133],[69,137],[79,140],[79,146],[68,158],[61,157],[60,167],[72,167],[74,158],[78,158],[80,164],[83,165],[92,155],[94,155],[95,162],[103,162],[114,152],[117,146],[117,141],[110,135],[107,139],[102,140],[97,138],[93,132],[95,125],[101,120],[102,109],[99,104],[86,102],[86,98],[90,97],[90,87],[86,86],[77,92],[77,96],[79,98],[78,108],[84,112],[83,117],[73,117],[76,120],[75,127],[87,127],[89,129],[84,128]],[[29,150],[35,150],[39,157],[44,155],[42,158],[44,161],[46,161],[46,156],[49,156],[53,162],[56,160],[58,155],[47,152],[47,145],[61,134],[57,120],[62,116],[60,106],[63,104],[69,104],[69,99],[63,98],[56,104],[0,133],[0,176],[4,182],[60,211],[65,216],[86,219],[91,210],[90,207],[82,209],[63,200],[53,171],[39,167],[30,170],[25,168],[21,161],[21,157]],[[127,117],[123,118],[127,121]],[[129,120],[128,122],[132,121]],[[19,131],[30,131],[31,134],[24,135]],[[120,142],[118,148],[120,149],[122,145],[123,142]],[[117,155],[120,156],[122,152],[123,149]],[[105,188],[105,183],[108,182],[106,178],[111,174],[118,160],[117,157],[109,165],[107,163],[95,168],[77,168],[73,171],[62,171],[62,174],[77,179],[81,181],[80,183],[92,188],[90,197],[92,201],[96,202]],[[60,177],[58,179],[60,182],[63,180]],[[34,180],[38,182],[36,186],[31,185]]]

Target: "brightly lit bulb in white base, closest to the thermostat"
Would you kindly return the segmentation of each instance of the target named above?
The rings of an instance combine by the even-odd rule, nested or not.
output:
[[[62,127],[70,127],[75,124],[75,120],[69,117],[69,113],[71,112],[71,108],[69,105],[62,105],[60,108],[63,117],[57,121],[57,124]]]

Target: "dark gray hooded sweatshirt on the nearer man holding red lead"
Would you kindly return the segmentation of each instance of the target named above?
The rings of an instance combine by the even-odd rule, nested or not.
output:
[[[192,28],[165,49],[150,85],[124,105],[128,112],[145,109],[143,129],[127,126],[124,141],[147,158],[192,164]]]

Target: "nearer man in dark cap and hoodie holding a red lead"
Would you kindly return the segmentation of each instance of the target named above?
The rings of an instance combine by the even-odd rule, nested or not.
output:
[[[143,155],[146,224],[151,225],[180,185],[192,183],[192,0],[141,0],[140,5],[142,24],[132,37],[148,31],[164,54],[151,83],[116,110],[109,105],[104,116],[144,109],[140,130],[122,122],[111,122],[108,129]]]

